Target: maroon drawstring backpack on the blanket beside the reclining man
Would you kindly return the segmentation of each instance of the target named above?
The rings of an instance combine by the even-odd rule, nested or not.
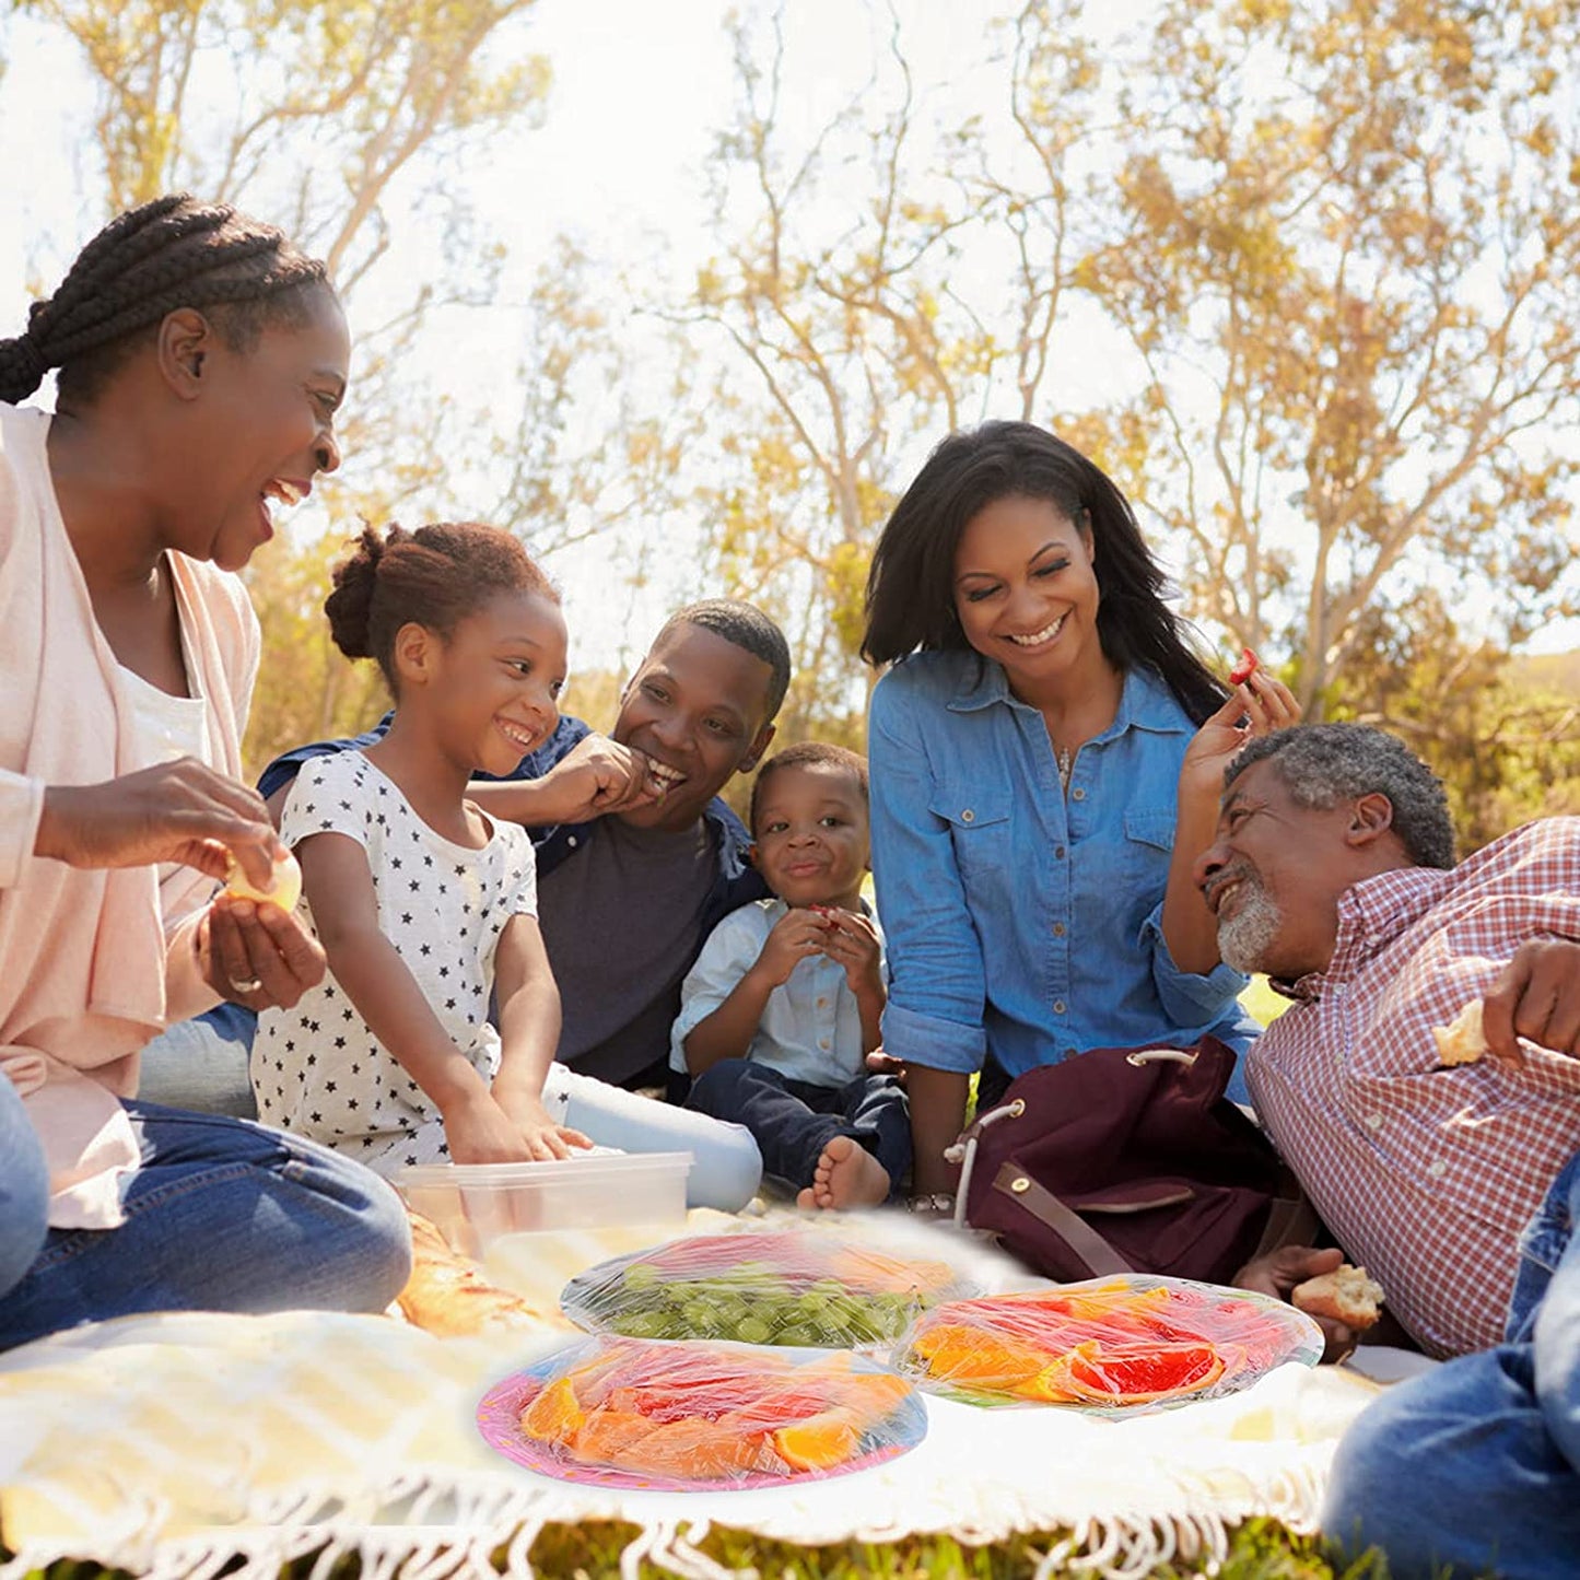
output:
[[[1229,1283],[1308,1240],[1315,1215],[1224,1097],[1234,1052],[1098,1048],[1018,1076],[950,1149],[956,1217],[1060,1283],[1166,1273]]]

